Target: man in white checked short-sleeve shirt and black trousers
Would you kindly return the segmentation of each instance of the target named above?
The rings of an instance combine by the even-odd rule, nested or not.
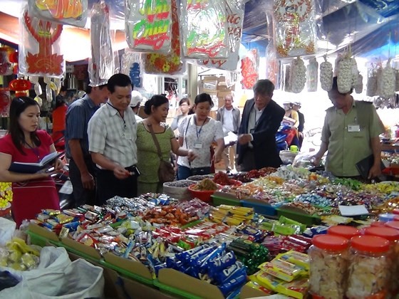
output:
[[[100,169],[96,204],[113,196],[137,196],[137,122],[129,107],[133,85],[124,74],[108,80],[109,100],[88,122],[89,151]]]

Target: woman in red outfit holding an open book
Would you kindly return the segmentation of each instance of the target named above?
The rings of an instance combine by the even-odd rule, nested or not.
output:
[[[12,182],[11,211],[16,226],[24,219],[34,219],[41,209],[59,209],[56,184],[51,173],[22,174],[9,172],[12,162],[36,163],[55,152],[51,136],[38,131],[40,109],[28,97],[14,98],[10,105],[10,129],[0,138],[0,182]],[[57,160],[56,170],[63,164]]]

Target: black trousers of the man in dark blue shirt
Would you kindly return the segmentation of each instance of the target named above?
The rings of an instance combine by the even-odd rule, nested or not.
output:
[[[93,176],[94,182],[98,168],[95,166],[90,157],[85,159],[88,172]],[[95,204],[95,188],[93,190],[83,188],[81,171],[78,169],[75,161],[69,161],[69,179],[71,179],[73,187],[73,199],[75,199],[75,207],[82,204]]]

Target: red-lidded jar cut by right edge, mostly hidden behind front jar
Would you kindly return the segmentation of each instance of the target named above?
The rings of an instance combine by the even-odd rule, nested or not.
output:
[[[398,293],[399,290],[399,231],[393,229],[396,221],[387,222],[385,227],[368,227],[364,230],[364,234],[368,236],[379,236],[390,242],[390,250],[388,254],[388,290],[391,294]],[[393,226],[393,227],[392,227]],[[399,226],[398,226],[399,227]]]

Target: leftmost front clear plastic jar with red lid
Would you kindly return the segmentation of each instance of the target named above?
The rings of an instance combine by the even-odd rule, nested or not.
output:
[[[348,239],[318,235],[309,248],[310,293],[314,298],[341,299],[346,290]]]

